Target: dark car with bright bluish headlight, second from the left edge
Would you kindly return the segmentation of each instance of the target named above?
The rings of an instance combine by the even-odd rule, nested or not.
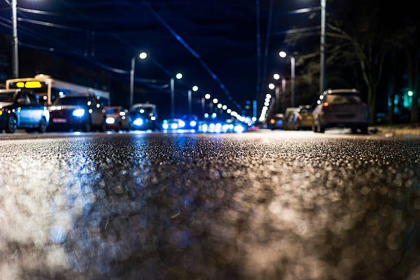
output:
[[[106,130],[105,109],[99,97],[66,96],[62,97],[49,108],[51,121],[49,129],[56,131]]]

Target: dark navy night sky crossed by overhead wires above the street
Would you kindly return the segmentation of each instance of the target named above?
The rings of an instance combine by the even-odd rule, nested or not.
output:
[[[132,56],[139,51],[148,51],[152,59],[137,62],[137,78],[152,78],[163,82],[169,80],[169,75],[157,67],[152,61],[154,60],[172,73],[183,73],[185,77],[183,82],[176,84],[176,89],[182,91],[177,94],[178,98],[183,98],[188,87],[196,84],[201,90],[200,94],[196,94],[197,100],[205,93],[211,93],[230,108],[235,108],[233,102],[229,102],[229,98],[220,88],[220,84],[211,78],[198,59],[156,19],[143,1],[19,0],[18,2],[21,8],[54,13],[34,14],[21,11],[19,16],[23,18],[77,29],[45,27],[19,21],[19,40],[22,43],[54,47],[57,51],[49,54],[64,57],[66,60],[93,69],[97,67],[93,65],[92,60],[95,60],[108,67],[128,71]],[[279,32],[290,28],[319,25],[318,11],[301,15],[284,14],[294,9],[316,7],[319,1],[274,2],[266,77],[272,76],[275,71],[279,73],[290,71],[288,64],[277,57],[277,52],[285,47],[284,35],[278,34]],[[243,107],[246,100],[255,99],[257,86],[255,1],[151,0],[148,3],[199,54],[226,86],[233,100]],[[261,69],[264,62],[269,4],[270,0],[261,0]],[[0,2],[0,15],[10,19],[10,7],[5,1]],[[0,26],[0,32],[10,33],[10,30]],[[86,51],[86,33],[89,32],[95,32],[94,40],[90,35],[90,43],[87,44],[90,61],[83,58]],[[113,78],[128,82],[128,75],[115,73]],[[264,89],[267,83],[268,81],[264,82]],[[166,96],[164,91],[152,90],[145,84],[137,83],[136,87],[145,89],[150,95]],[[128,93],[121,94],[128,95]],[[259,102],[262,99],[260,97]]]

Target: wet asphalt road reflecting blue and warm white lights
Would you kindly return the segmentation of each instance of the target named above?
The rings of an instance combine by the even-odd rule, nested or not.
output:
[[[0,279],[419,279],[420,141],[0,136]]]

